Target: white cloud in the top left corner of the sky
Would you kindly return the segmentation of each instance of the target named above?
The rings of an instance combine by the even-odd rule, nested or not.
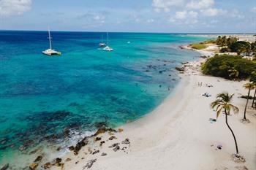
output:
[[[0,0],[0,17],[21,15],[31,9],[31,0]]]

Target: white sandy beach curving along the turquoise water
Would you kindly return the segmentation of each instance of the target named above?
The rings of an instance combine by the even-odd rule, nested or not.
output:
[[[209,55],[206,52],[204,55]],[[246,100],[238,98],[246,95],[243,82],[233,82],[218,77],[209,77],[196,71],[200,62],[193,62],[187,74],[182,79],[176,91],[169,96],[157,109],[132,123],[124,125],[124,131],[116,133],[117,139],[108,140],[110,134],[99,135],[105,144],[99,147],[99,142],[90,144],[90,150],[99,150],[94,155],[87,154],[89,147],[83,147],[77,156],[72,153],[64,161],[64,169],[87,169],[86,163],[94,158],[97,161],[91,169],[104,170],[226,170],[226,169],[256,169],[256,111],[248,109],[247,118],[251,123],[241,123]],[[202,87],[198,82],[203,82]],[[213,85],[213,88],[206,87]],[[218,93],[227,91],[235,93],[233,104],[240,109],[237,115],[228,117],[238,140],[240,155],[246,158],[245,163],[235,163],[231,155],[236,152],[233,136],[225,125],[224,115],[220,115],[216,123],[209,118],[216,118],[216,113],[210,109]],[[202,96],[210,93],[211,97]],[[252,101],[250,101],[252,102]],[[250,106],[250,103],[249,103]],[[108,148],[113,143],[128,138],[130,144],[120,144],[127,149],[113,151]],[[222,150],[217,145],[222,145]],[[102,152],[108,155],[101,156]],[[65,160],[65,158],[63,158]],[[77,162],[77,163],[76,163]],[[60,169],[53,166],[53,169]]]

